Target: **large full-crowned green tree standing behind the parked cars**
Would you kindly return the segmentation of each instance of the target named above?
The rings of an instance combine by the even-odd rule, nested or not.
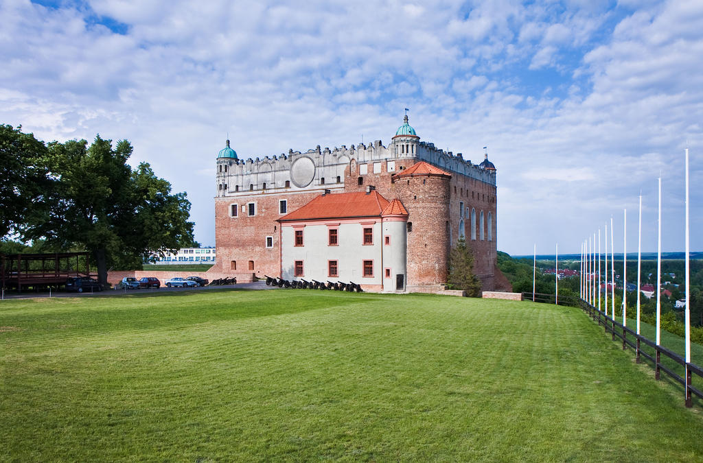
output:
[[[25,239],[45,239],[63,248],[81,245],[93,254],[98,280],[110,266],[141,265],[150,249],[179,249],[193,243],[191,203],[185,193],[171,195],[171,185],[157,178],[149,164],[127,164],[132,147],[99,135],[49,143],[50,195],[43,214],[27,220]]]

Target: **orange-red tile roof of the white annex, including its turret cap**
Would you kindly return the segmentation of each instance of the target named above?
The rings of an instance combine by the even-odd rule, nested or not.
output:
[[[360,191],[320,195],[278,221],[380,217],[389,204],[388,200],[375,190],[370,193]]]

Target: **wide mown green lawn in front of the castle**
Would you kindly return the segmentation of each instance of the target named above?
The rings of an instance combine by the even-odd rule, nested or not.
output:
[[[0,303],[0,460],[703,457],[577,308],[275,290]]]

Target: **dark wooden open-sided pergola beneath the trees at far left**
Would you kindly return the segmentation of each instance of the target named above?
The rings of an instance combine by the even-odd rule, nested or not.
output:
[[[0,282],[4,289],[20,292],[22,287],[65,285],[68,278],[90,276],[89,257],[89,252],[0,254]]]

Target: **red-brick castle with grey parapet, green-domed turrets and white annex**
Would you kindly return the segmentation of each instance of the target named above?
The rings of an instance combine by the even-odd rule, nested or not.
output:
[[[465,236],[484,290],[496,268],[496,168],[420,141],[405,116],[381,141],[263,159],[217,156],[212,270],[250,281],[354,281],[378,292],[434,292]]]

